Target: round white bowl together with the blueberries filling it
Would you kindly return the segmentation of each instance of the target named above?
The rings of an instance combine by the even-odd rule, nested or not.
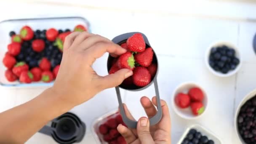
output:
[[[216,76],[229,77],[241,67],[242,56],[239,49],[229,42],[217,42],[209,46],[205,53],[205,64]]]

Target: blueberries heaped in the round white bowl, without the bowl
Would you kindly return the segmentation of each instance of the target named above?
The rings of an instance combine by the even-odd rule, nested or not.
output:
[[[209,64],[215,71],[227,74],[240,63],[240,60],[235,55],[235,50],[226,45],[211,48]]]

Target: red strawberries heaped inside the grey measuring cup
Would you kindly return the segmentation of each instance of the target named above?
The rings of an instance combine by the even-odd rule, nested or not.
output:
[[[132,35],[120,46],[128,51],[118,58],[112,59],[109,74],[113,74],[119,69],[131,69],[133,75],[125,79],[122,85],[126,87],[144,87],[148,85],[157,72],[157,64],[153,61],[154,52],[152,48],[145,44],[140,33]]]

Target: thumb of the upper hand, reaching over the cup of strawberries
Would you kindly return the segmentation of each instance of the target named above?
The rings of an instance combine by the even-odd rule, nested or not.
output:
[[[131,69],[120,69],[114,74],[102,77],[101,83],[104,89],[113,88],[123,83],[123,80],[125,80],[127,77],[130,77],[131,75],[133,75],[133,71]]]

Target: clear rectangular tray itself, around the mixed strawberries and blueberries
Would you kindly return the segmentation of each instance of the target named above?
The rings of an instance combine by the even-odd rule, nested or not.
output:
[[[83,17],[57,17],[57,18],[39,18],[39,19],[13,19],[0,22],[0,85],[8,87],[33,87],[33,86],[51,86],[51,83],[35,82],[30,84],[19,83],[19,81],[9,82],[5,78],[5,70],[2,60],[7,51],[7,45],[11,42],[9,32],[19,32],[21,27],[29,25],[33,30],[35,29],[49,29],[54,27],[56,29],[74,29],[77,24],[82,24],[91,32],[89,21]]]

